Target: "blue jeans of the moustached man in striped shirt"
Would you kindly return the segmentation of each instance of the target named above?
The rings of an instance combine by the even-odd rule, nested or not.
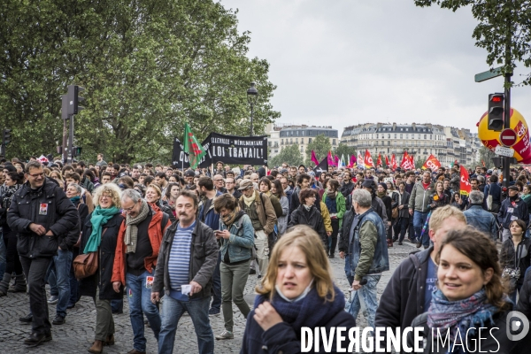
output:
[[[182,312],[189,312],[197,335],[199,354],[214,352],[214,334],[208,318],[210,296],[190,301],[179,301],[168,295],[164,296],[162,303],[162,327],[158,335],[158,352],[173,353],[175,332]]]

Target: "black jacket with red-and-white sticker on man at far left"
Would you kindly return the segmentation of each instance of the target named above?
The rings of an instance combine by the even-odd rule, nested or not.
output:
[[[63,189],[46,178],[35,191],[26,182],[12,197],[7,223],[19,233],[17,250],[21,257],[52,257],[58,247],[70,249],[80,235],[78,212]],[[31,223],[42,225],[53,236],[36,235]]]

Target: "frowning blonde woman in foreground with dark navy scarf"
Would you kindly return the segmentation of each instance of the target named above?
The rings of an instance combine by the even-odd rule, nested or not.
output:
[[[302,327],[326,327],[327,333],[331,327],[356,327],[356,319],[344,311],[345,297],[332,281],[320,240],[312,228],[296,226],[275,244],[240,353],[298,353]],[[336,342],[330,351],[320,341],[319,352],[336,352]],[[347,335],[342,348],[349,345]],[[312,350],[316,348],[314,343]]]

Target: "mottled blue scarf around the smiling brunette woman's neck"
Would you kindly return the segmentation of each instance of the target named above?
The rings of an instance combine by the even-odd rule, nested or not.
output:
[[[450,301],[443,295],[443,291],[437,289],[432,295],[432,302],[427,310],[427,327],[441,328],[443,333],[450,328],[450,341],[453,342],[456,333],[463,335],[470,327],[485,326],[489,320],[490,325],[494,325],[492,315],[498,312],[498,308],[493,304],[487,303],[487,294],[485,289],[481,289],[473,296],[464,300]],[[474,335],[475,331],[470,331]],[[434,331],[437,336],[438,331]]]

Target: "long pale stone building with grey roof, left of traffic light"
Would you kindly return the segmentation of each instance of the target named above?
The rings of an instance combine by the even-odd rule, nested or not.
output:
[[[378,154],[395,154],[400,163],[404,151],[413,155],[415,162],[424,162],[433,154],[442,165],[455,160],[473,165],[479,157],[481,142],[469,129],[443,127],[435,124],[398,125],[366,123],[343,129],[341,142],[358,151],[369,150],[374,160]]]

